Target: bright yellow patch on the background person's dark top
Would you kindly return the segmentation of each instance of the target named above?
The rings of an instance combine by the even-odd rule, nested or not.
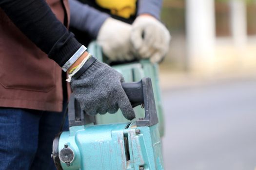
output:
[[[102,8],[110,10],[112,15],[129,18],[136,13],[137,0],[96,0]]]

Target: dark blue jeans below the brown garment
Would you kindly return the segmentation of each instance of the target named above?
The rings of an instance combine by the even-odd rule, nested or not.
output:
[[[0,107],[0,170],[56,170],[52,142],[64,112]]]

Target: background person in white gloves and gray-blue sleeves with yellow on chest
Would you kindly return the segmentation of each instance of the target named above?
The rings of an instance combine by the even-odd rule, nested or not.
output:
[[[69,0],[69,3],[70,25],[77,28],[72,30],[85,44],[96,39],[109,62],[150,58],[152,63],[158,63],[166,55],[171,36],[159,21],[162,0]],[[90,8],[95,9],[91,17],[87,14]],[[95,22],[87,27],[89,20]]]

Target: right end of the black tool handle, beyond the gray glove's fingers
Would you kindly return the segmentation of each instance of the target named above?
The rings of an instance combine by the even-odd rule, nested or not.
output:
[[[144,105],[145,117],[137,120],[137,126],[152,126],[158,123],[158,115],[151,79],[142,78],[139,82],[122,83],[122,87],[133,107]]]

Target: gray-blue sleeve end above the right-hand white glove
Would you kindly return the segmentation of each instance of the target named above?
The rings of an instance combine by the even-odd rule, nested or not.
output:
[[[150,14],[159,20],[161,8],[162,0],[139,0],[137,15]]]

